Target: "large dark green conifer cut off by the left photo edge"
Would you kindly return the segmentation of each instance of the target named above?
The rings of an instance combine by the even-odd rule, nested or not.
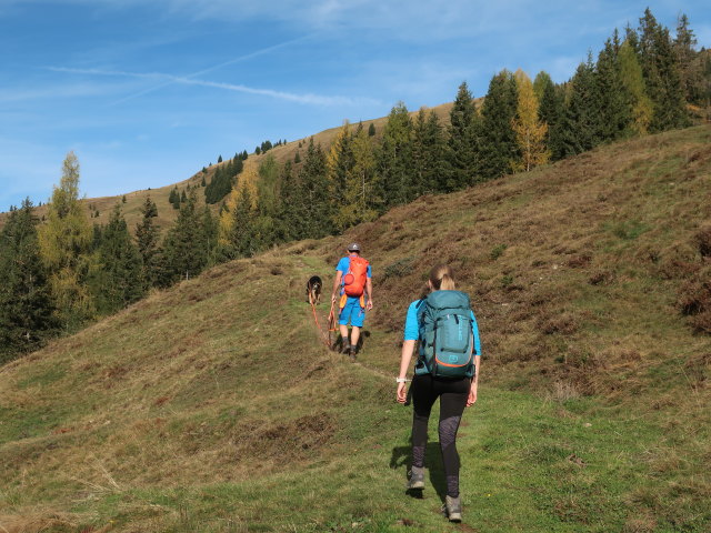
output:
[[[11,209],[0,232],[0,364],[39,349],[56,322],[32,202]]]

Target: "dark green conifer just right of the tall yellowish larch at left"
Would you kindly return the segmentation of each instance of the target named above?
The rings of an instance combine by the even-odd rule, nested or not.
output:
[[[94,285],[98,311],[109,314],[143,296],[146,283],[141,254],[129,234],[117,204],[101,232],[98,250],[99,272]]]

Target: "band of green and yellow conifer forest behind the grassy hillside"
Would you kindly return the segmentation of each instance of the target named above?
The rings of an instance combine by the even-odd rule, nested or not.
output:
[[[293,160],[247,151],[222,161],[208,183],[174,188],[178,218],[159,237],[150,198],[129,229],[121,203],[107,224],[80,205],[79,161],[63,162],[46,220],[26,200],[0,233],[0,363],[77,331],[204,269],[279,243],[318,239],[372,221],[422,194],[458,191],[602,143],[709,121],[711,53],[697,49],[685,16],[675,33],[648,9],[638,28],[615,30],[597,59],[554,83],[519,70],[492,77],[475,100],[463,82],[444,127],[431,110],[394,105],[381,131],[346,122],[329,147],[299,141]],[[198,207],[219,204],[218,214]]]

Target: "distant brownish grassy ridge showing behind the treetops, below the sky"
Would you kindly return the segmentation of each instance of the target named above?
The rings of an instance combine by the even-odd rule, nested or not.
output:
[[[432,110],[437,113],[440,119],[440,123],[448,124],[449,123],[449,112],[451,110],[451,103],[443,103]],[[412,112],[412,115],[415,113]],[[373,120],[363,121],[363,127],[368,128],[371,123],[375,125],[377,134],[379,135],[382,132],[382,128],[387,122],[387,118],[379,118]],[[313,137],[313,142],[317,144],[321,144],[324,150],[328,150],[328,147],[331,145],[331,142],[336,138],[340,128],[331,128],[328,130],[323,130],[319,133],[316,133]],[[297,152],[301,153],[301,159],[303,160],[303,155],[306,154],[306,142],[308,139],[297,139],[296,141],[288,142],[287,144],[276,147],[270,150],[268,153],[273,155],[277,161],[280,163],[284,163],[290,160],[293,161]],[[302,148],[299,148],[299,143],[302,143]],[[241,150],[239,150],[241,151]],[[231,158],[232,154],[224,153],[222,154],[224,158]],[[250,159],[260,161],[264,155],[254,155],[250,154]],[[227,163],[227,161],[226,161]],[[226,164],[222,163],[222,164]],[[298,167],[298,165],[297,165]],[[210,183],[214,171],[217,170],[218,164],[212,164],[207,168],[208,172],[204,174],[207,183]],[[93,207],[99,211],[99,217],[96,219],[90,219],[92,223],[106,224],[109,221],[109,217],[111,214],[111,210],[117,203],[121,203],[123,215],[126,217],[126,221],[131,231],[134,231],[136,225],[141,220],[140,209],[146,202],[146,199],[150,197],[150,199],[156,202],[158,207],[158,218],[156,219],[156,223],[159,225],[159,229],[164,232],[168,230],[172,223],[176,221],[178,217],[178,210],[173,209],[173,207],[168,202],[168,197],[170,191],[178,187],[178,191],[182,192],[188,185],[200,187],[202,182],[202,172],[199,171],[196,174],[191,175],[187,180],[179,181],[177,183],[171,183],[166,187],[157,188],[157,189],[142,189],[140,191],[131,191],[126,194],[119,194],[117,197],[101,197],[101,198],[88,198],[83,200],[83,204],[87,209],[87,215],[91,214],[89,207]],[[57,177],[57,181],[59,182],[59,175]],[[122,197],[126,197],[126,203],[122,203]],[[42,199],[42,202],[46,200]],[[202,189],[198,189],[198,204],[204,205],[204,193]],[[214,205],[214,213],[218,212],[218,205]],[[36,213],[38,217],[42,218],[47,214],[47,204],[37,208]],[[7,213],[0,213],[0,229],[4,223],[4,219]]]

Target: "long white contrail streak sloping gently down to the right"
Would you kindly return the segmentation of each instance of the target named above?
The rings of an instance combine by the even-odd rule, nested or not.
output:
[[[270,97],[279,100],[287,100],[290,102],[309,104],[309,105],[361,105],[361,104],[368,104],[368,103],[375,103],[375,104],[379,103],[378,101],[368,99],[368,98],[323,95],[323,94],[313,94],[313,93],[298,94],[293,92],[278,91],[273,89],[259,89],[259,88],[248,87],[243,84],[198,80],[194,78],[179,77],[179,76],[173,76],[164,72],[130,72],[124,70],[73,69],[73,68],[67,68],[67,67],[49,67],[48,69],[53,72],[64,72],[64,73],[71,73],[71,74],[113,76],[113,77],[140,78],[140,79],[163,81],[161,86],[151,88],[151,90],[156,90],[160,87],[166,87],[170,83],[179,83],[183,86],[198,86],[198,87],[208,87],[212,89],[222,89],[227,91],[241,92],[247,94],[259,94],[263,97]],[[208,70],[213,70],[213,69],[208,69]],[[136,95],[140,93],[137,93]]]

